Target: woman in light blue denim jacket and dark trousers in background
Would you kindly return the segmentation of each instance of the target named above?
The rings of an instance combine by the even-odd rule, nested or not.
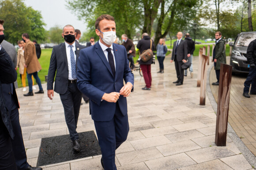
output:
[[[163,38],[160,38],[159,43],[156,46],[156,56],[159,62],[160,73],[164,73],[164,59],[166,58],[166,53],[167,53],[166,42]]]

